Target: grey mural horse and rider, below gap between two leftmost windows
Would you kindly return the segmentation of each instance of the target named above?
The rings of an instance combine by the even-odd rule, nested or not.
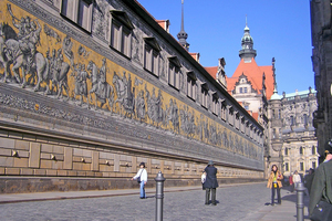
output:
[[[95,65],[93,61],[90,61],[86,70],[91,73],[92,88],[89,91],[90,101],[92,101],[91,94],[95,94],[95,108],[97,108],[97,101],[101,102],[101,108],[106,104],[106,99],[108,101],[108,105],[111,112],[113,112],[113,101],[114,101],[114,91],[113,87],[107,82],[101,82],[98,76],[98,67]]]

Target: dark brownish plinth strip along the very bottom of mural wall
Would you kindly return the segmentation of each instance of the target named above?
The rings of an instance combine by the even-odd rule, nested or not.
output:
[[[155,188],[154,178],[149,175],[146,188]],[[219,178],[221,183],[257,182],[263,179],[250,178]],[[164,187],[200,186],[200,179],[168,179]],[[0,193],[49,192],[49,191],[85,191],[85,190],[115,190],[138,188],[135,180],[128,178],[65,178],[65,177],[0,177]]]

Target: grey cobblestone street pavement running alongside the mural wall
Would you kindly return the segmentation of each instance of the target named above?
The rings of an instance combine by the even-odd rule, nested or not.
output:
[[[286,192],[282,189],[281,194]],[[155,220],[156,199],[154,193],[147,197],[141,200],[137,189],[132,196],[4,203],[0,220]],[[204,199],[204,190],[165,192],[164,220],[247,220],[267,208],[270,189],[266,183],[235,185],[217,189],[216,207],[205,206]]]

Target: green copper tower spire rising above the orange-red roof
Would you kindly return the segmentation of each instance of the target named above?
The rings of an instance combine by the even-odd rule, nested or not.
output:
[[[245,33],[241,39],[242,50],[239,52],[239,56],[245,60],[245,62],[251,62],[251,59],[255,59],[257,53],[253,50],[253,40],[250,35],[250,29],[248,28],[247,14],[246,14],[246,28]]]

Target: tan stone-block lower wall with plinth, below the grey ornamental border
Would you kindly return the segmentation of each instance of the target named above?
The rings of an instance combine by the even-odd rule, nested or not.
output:
[[[137,188],[129,179],[142,161],[148,172],[147,187],[155,186],[158,171],[167,179],[166,187],[199,186],[206,167],[201,159],[0,130],[0,193]],[[260,170],[216,167],[220,183],[263,178]]]

